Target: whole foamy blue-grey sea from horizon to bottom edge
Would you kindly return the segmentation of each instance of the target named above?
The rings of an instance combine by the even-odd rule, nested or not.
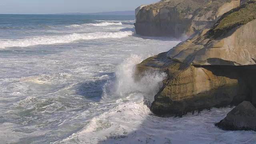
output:
[[[160,118],[166,74],[136,64],[180,40],[137,35],[134,16],[0,15],[0,144],[255,144],[214,123],[232,108]]]

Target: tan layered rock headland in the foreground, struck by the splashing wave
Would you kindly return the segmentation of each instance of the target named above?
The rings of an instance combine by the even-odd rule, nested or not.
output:
[[[136,76],[160,70],[168,74],[152,112],[175,116],[213,106],[256,105],[256,1],[227,12],[169,52],[144,60]]]

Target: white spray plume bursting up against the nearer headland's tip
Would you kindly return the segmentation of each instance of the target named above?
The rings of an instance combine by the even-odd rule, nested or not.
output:
[[[162,80],[166,78],[163,72],[151,72],[139,80],[134,80],[136,64],[142,62],[142,56],[132,55],[126,58],[116,69],[116,77],[109,80],[103,88],[103,100],[124,98],[134,93],[141,93],[144,101],[151,104],[154,96],[162,87]]]

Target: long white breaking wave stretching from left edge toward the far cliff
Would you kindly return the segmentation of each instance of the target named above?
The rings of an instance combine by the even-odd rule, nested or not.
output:
[[[0,48],[70,43],[75,40],[124,38],[126,36],[131,36],[132,34],[133,34],[132,31],[124,31],[124,32],[93,32],[93,33],[86,33],[86,34],[74,33],[74,34],[68,34],[63,36],[35,36],[35,37],[25,38],[25,39],[0,40]]]

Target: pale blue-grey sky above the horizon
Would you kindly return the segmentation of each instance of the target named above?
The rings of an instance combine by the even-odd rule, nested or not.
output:
[[[56,14],[134,10],[160,0],[0,0],[0,14]]]

